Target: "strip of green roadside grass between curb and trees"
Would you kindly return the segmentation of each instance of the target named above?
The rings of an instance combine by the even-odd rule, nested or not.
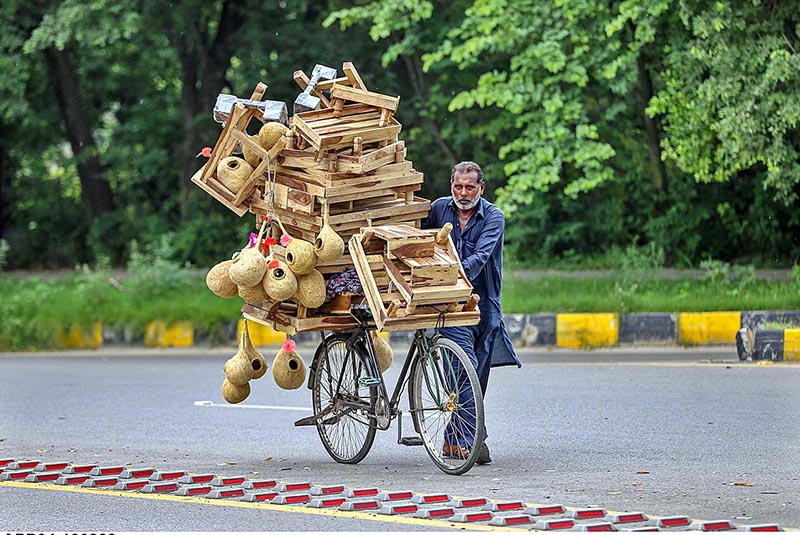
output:
[[[54,347],[54,331],[103,322],[142,336],[149,321],[190,319],[211,339],[239,317],[242,301],[222,299],[205,285],[205,271],[170,260],[169,241],[131,244],[124,271],[102,263],[59,276],[0,273],[0,350]],[[613,260],[612,263],[612,258]],[[0,255],[0,269],[2,269]],[[753,266],[708,260],[699,269],[665,273],[658,251],[629,247],[609,255],[603,271],[583,274],[563,266],[531,271],[509,263],[503,306],[509,314],[547,312],[695,312],[800,309],[800,266],[765,279]],[[587,262],[593,265],[592,262]],[[533,266],[542,267],[542,266]]]

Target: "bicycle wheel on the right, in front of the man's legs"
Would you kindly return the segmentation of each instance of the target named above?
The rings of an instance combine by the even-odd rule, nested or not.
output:
[[[419,355],[409,380],[414,427],[434,464],[447,474],[467,472],[483,445],[483,396],[464,350],[446,338]]]

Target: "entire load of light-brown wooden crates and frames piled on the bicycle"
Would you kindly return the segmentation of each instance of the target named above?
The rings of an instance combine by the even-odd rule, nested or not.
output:
[[[348,250],[316,269],[326,278],[348,268],[357,271],[365,293],[357,299],[369,302],[380,328],[433,327],[443,319],[447,325],[476,323],[477,301],[449,236],[437,240],[436,230],[419,228],[430,201],[416,196],[423,174],[406,160],[405,142],[398,137],[399,98],[369,91],[349,62],[342,70],[343,77],[314,86],[320,109],[295,113],[280,143],[269,151],[259,147],[261,163],[245,188],[226,194],[215,181],[221,158],[237,143],[253,144],[248,127],[260,117],[238,104],[193,181],[237,214],[255,214],[257,225],[266,216],[279,221],[272,227],[278,241],[286,232],[313,243],[327,223]],[[295,80],[306,89],[307,76],[298,71]],[[262,96],[257,88],[254,98]],[[270,252],[285,260],[280,244]],[[267,300],[245,303],[242,311],[289,334],[356,326],[346,307],[330,301],[308,310],[295,300]]]

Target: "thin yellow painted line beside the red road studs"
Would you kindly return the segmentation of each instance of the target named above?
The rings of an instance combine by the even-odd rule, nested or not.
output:
[[[512,528],[509,526],[488,526],[485,524],[446,522],[443,520],[432,520],[427,518],[410,518],[404,516],[381,515],[377,511],[373,513],[358,511],[339,511],[338,509],[316,509],[314,507],[301,507],[297,505],[273,505],[263,502],[235,502],[227,500],[214,500],[210,498],[198,498],[194,496],[173,496],[171,494],[144,494],[131,491],[95,489],[89,487],[72,487],[62,485],[52,485],[48,483],[27,483],[22,481],[3,481],[0,487],[18,487],[37,490],[57,490],[62,492],[76,492],[80,494],[95,494],[98,496],[117,496],[123,498],[137,498],[144,500],[158,500],[165,502],[198,503],[203,505],[217,505],[223,507],[241,507],[245,509],[262,509],[267,511],[277,511],[283,513],[300,513],[306,515],[335,516],[340,518],[352,518],[356,520],[370,520],[372,522],[389,522],[394,524],[409,524],[416,526],[426,526],[433,528],[451,528],[467,531],[531,531],[530,529]]]

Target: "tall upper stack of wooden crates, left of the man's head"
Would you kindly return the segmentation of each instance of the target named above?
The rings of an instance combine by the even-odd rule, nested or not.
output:
[[[430,209],[414,195],[423,175],[398,139],[399,98],[367,91],[351,63],[343,70],[345,77],[316,86],[329,88],[330,107],[292,117],[290,146],[278,156],[274,211],[292,236],[310,241],[325,218],[347,241],[365,226],[419,226]]]

